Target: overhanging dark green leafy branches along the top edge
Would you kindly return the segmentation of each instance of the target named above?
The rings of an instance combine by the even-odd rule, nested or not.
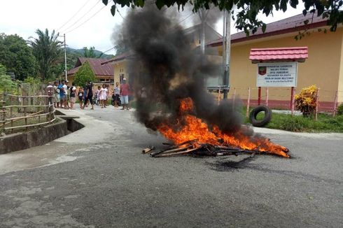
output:
[[[109,0],[102,0],[107,5]],[[148,3],[151,1],[148,1]],[[218,6],[221,10],[232,10],[234,7],[237,11],[236,28],[243,29],[246,34],[250,31],[254,34],[258,27],[262,27],[264,32],[266,24],[258,20],[258,13],[262,12],[266,16],[272,14],[274,10],[287,10],[288,4],[293,7],[301,7],[299,0],[277,0],[277,1],[256,1],[256,0],[154,0],[155,5],[161,9],[164,6],[178,6],[183,8],[186,3],[193,5],[193,12],[202,8],[209,9],[211,6]],[[146,0],[113,0],[111,13],[116,13],[117,4],[124,7],[144,7]],[[328,18],[328,25],[331,31],[336,31],[338,24],[343,24],[343,11],[340,10],[343,0],[302,0],[302,13],[316,14],[318,17]],[[234,14],[232,14],[234,15]],[[235,15],[234,15],[235,17]],[[308,21],[307,21],[308,22]],[[304,22],[305,23],[305,22]]]

